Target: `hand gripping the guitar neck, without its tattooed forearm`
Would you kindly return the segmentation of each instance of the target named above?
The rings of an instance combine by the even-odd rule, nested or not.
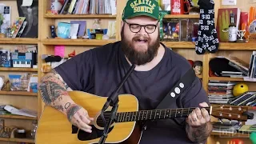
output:
[[[206,102],[202,102],[199,104],[199,106],[208,107],[208,104]],[[190,113],[189,117],[186,119],[186,122],[191,127],[203,126],[206,124],[206,122],[210,122],[210,115],[205,108],[202,108],[201,110],[196,108],[192,111],[192,113]]]

